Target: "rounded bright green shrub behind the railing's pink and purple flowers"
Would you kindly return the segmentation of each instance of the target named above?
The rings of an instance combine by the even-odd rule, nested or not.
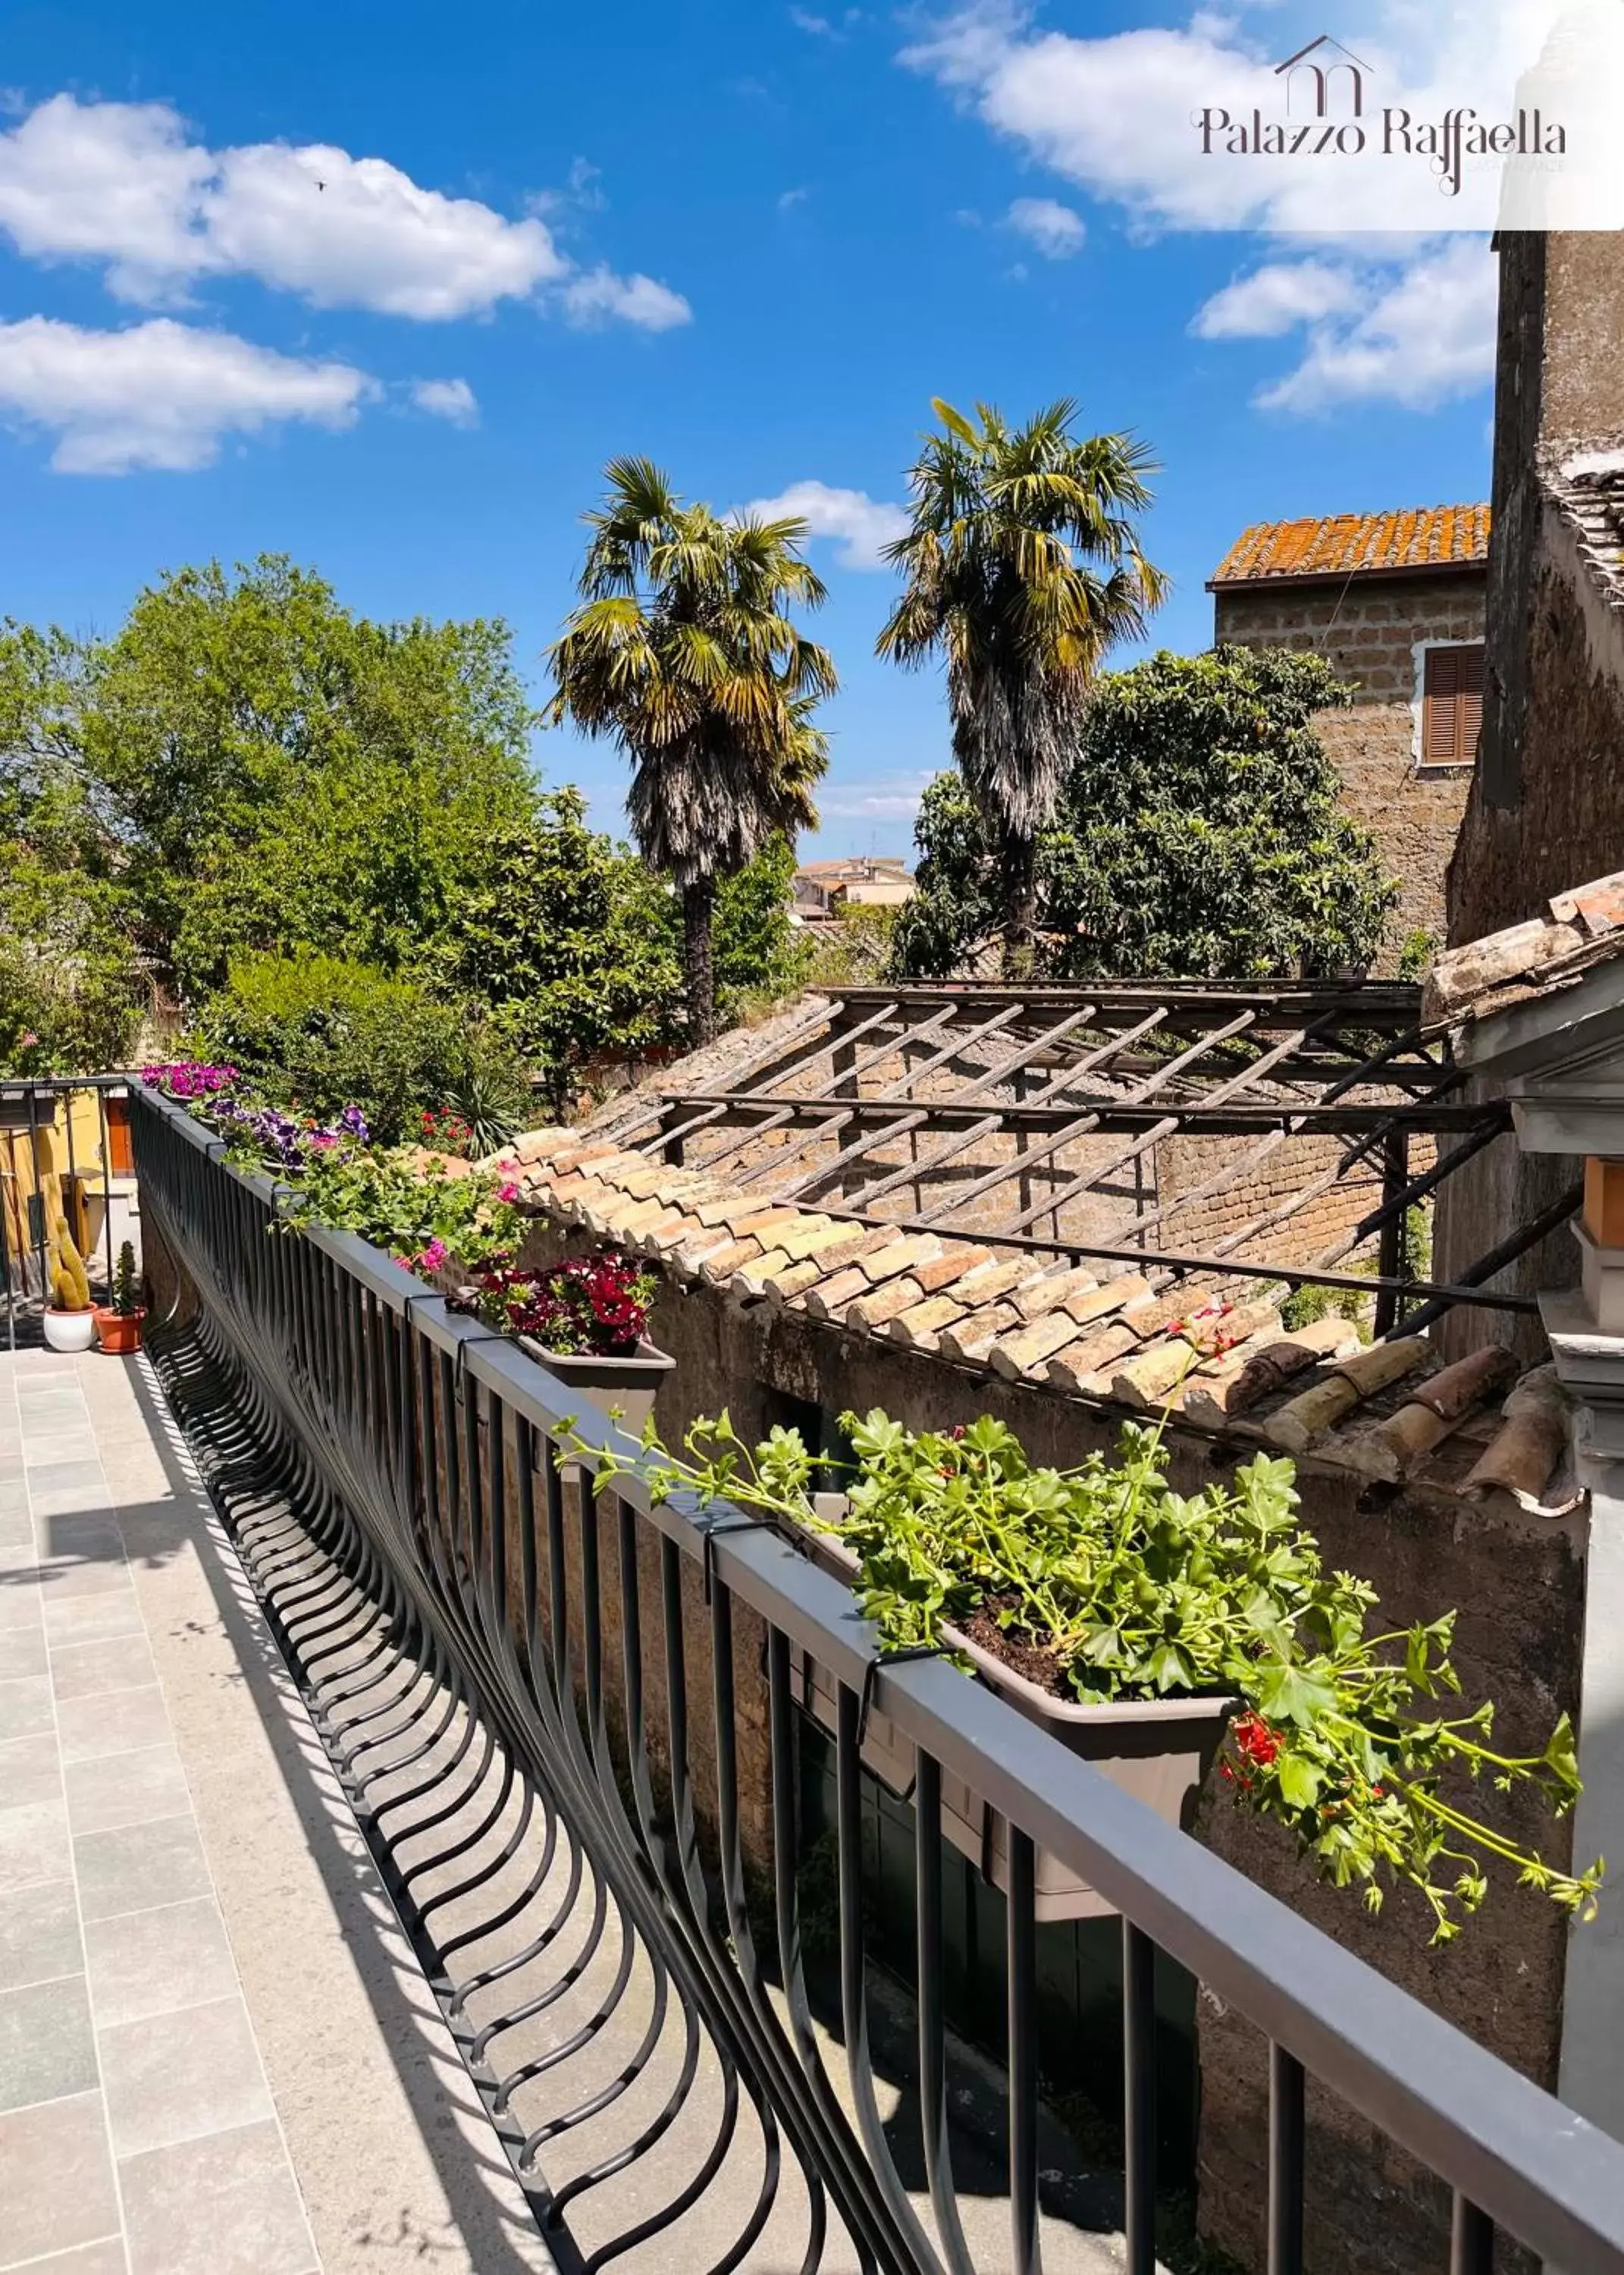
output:
[[[521,1094],[512,1051],[464,1003],[337,956],[239,958],[198,1040],[312,1115],[359,1106],[382,1144],[414,1138],[421,1110],[453,1106],[471,1081]]]

